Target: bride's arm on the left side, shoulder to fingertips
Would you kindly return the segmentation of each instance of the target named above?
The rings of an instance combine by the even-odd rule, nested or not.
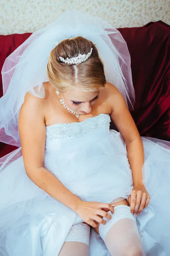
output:
[[[44,167],[46,142],[44,108],[43,99],[27,93],[20,109],[18,125],[26,174],[39,188],[78,213],[92,227],[96,227],[94,220],[105,224],[106,222],[98,215],[110,219],[111,216],[102,210],[107,208],[113,212],[110,204],[82,201]]]

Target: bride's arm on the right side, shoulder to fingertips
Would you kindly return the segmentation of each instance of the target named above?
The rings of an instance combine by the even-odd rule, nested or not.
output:
[[[127,157],[132,170],[133,190],[129,197],[129,204],[131,212],[138,215],[142,209],[147,207],[150,201],[150,195],[142,182],[144,147],[123,96],[112,84],[108,84],[108,90],[109,102],[112,108],[110,116],[126,143]]]

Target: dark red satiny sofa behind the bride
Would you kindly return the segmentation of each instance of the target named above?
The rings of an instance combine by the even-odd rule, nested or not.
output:
[[[138,130],[141,136],[170,141],[170,26],[159,20],[142,27],[118,30],[127,42],[131,55],[136,95],[132,116]],[[30,35],[0,35],[0,70],[6,57]],[[110,128],[114,128],[113,124]],[[15,148],[0,143],[0,157]]]

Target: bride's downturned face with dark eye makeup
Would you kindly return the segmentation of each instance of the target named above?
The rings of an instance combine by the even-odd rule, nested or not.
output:
[[[95,104],[99,97],[99,92],[100,90],[82,92],[80,89],[75,88],[69,93],[61,93],[61,97],[68,108],[82,115],[91,112],[92,105]]]

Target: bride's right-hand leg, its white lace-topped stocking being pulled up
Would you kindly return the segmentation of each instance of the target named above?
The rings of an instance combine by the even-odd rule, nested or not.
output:
[[[104,218],[107,223],[100,224],[95,231],[104,240],[111,256],[144,256],[141,238],[135,218],[130,212],[127,200],[117,203],[112,201],[115,211],[110,220]]]

